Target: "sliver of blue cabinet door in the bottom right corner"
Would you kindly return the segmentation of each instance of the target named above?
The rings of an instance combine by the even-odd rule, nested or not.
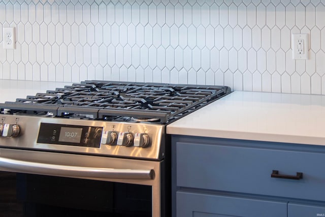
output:
[[[325,204],[288,203],[288,217],[325,216]]]

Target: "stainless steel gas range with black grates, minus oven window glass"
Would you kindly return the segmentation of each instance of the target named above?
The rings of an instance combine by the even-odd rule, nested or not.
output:
[[[171,141],[166,126],[230,92],[227,86],[91,80],[0,104],[0,170],[126,183],[127,191],[145,185],[150,207],[138,210],[139,215],[169,216]],[[85,182],[83,188],[87,185],[93,184]],[[32,186],[28,195],[36,193]],[[123,213],[141,203],[128,205],[125,197],[118,205],[118,195],[114,189],[103,196],[111,203],[103,205],[105,211]],[[28,196],[23,198],[30,203]],[[32,198],[45,203],[44,195]],[[86,204],[78,209],[92,209]]]

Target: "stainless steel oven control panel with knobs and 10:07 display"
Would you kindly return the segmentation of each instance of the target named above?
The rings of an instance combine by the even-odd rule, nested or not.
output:
[[[0,115],[0,147],[160,159],[165,125]]]

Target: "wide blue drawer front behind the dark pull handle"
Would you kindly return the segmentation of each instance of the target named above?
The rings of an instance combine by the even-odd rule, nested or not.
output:
[[[325,201],[325,154],[177,143],[177,186]],[[299,180],[272,178],[303,173]]]

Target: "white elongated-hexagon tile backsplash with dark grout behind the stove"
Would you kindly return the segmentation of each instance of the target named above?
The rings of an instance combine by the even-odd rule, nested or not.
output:
[[[17,42],[0,46],[0,78],[325,94],[324,16],[319,0],[1,1]],[[293,33],[309,34],[308,60],[292,59]]]

